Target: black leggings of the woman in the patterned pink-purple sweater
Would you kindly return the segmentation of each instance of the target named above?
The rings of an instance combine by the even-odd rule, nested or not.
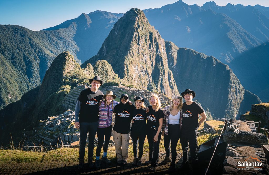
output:
[[[107,128],[97,128],[98,146],[96,148],[96,156],[100,156],[101,149],[104,143],[104,136],[105,136],[105,144],[103,150],[104,152],[107,152],[109,140],[111,137],[111,131],[112,131],[111,125]]]

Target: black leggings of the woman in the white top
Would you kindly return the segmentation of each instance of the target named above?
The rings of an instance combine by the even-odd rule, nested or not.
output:
[[[179,124],[168,124],[168,134],[164,134],[164,148],[166,156],[170,156],[172,153],[172,163],[176,162],[176,145],[178,144],[178,139],[180,136],[180,126]],[[171,143],[171,148],[170,148]]]

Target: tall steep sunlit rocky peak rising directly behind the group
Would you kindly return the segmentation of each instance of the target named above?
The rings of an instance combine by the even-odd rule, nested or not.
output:
[[[98,54],[82,64],[106,60],[121,83],[155,89],[169,97],[178,94],[167,63],[165,41],[148,22],[144,12],[128,10],[115,23]]]

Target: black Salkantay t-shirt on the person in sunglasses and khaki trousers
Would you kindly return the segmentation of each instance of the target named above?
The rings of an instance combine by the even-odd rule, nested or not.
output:
[[[128,134],[130,132],[130,121],[133,118],[133,111],[135,106],[130,105],[129,102],[123,104],[119,103],[114,107],[115,123],[113,130],[119,134]]]

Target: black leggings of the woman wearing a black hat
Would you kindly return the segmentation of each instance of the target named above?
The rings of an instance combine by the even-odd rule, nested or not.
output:
[[[144,148],[144,142],[146,138],[146,132],[145,133],[137,133],[135,131],[131,131],[131,137],[133,139],[133,152],[134,152],[134,157],[137,158],[137,144],[138,144],[138,139],[139,139],[139,155],[138,157],[141,159],[143,155],[143,148]]]

